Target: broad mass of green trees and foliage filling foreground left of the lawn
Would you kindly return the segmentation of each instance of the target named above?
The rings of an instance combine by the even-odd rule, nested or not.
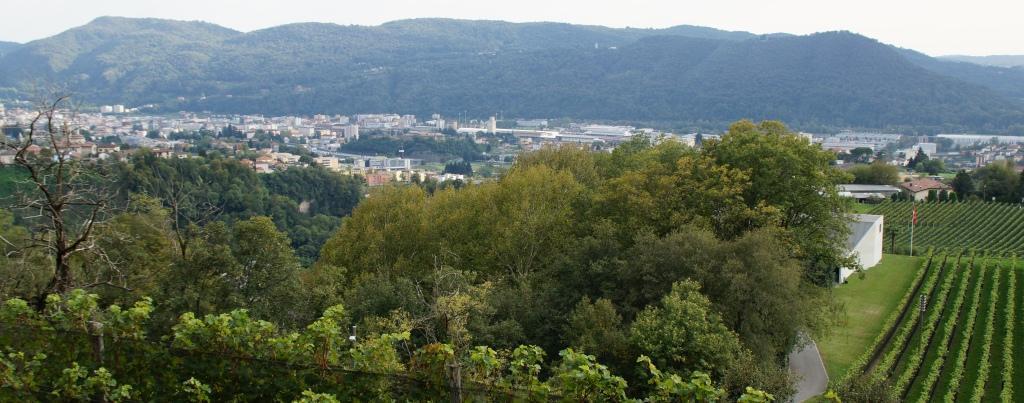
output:
[[[26,156],[7,167],[29,171],[15,200],[78,199],[82,186],[109,197],[0,217],[0,322],[43,329],[6,333],[3,365],[29,386],[0,393],[411,397],[434,385],[427,396],[784,400],[784,358],[828,330],[842,309],[833,272],[852,264],[835,190],[849,177],[833,160],[779,123],[744,121],[700,149],[642,136],[610,153],[546,148],[497,181],[390,186],[353,210],[358,181],[316,168]],[[62,188],[33,185],[57,172]],[[318,256],[304,252],[336,220]],[[55,234],[83,241],[47,243]],[[90,323],[105,323],[117,358],[90,349]],[[166,368],[136,373],[143,356]],[[284,368],[301,375],[273,375]],[[247,386],[259,376],[272,380]],[[346,390],[344,376],[382,384]]]

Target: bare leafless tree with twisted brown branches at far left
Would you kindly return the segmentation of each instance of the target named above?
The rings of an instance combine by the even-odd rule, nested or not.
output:
[[[103,256],[97,251],[94,230],[110,216],[111,197],[102,174],[72,151],[71,136],[76,130],[65,116],[70,114],[68,105],[67,95],[41,102],[19,138],[0,138],[0,147],[13,153],[11,165],[27,176],[11,206],[23,212],[23,219],[30,224],[30,238],[24,248],[45,251],[53,263],[52,276],[36,296],[37,305],[42,305],[47,295],[72,287],[115,285],[102,279],[76,282],[72,264],[76,257],[87,253]]]

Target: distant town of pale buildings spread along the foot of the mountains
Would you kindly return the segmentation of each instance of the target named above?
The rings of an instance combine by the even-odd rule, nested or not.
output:
[[[31,107],[5,108],[0,104],[0,126],[5,135],[16,137],[37,113]],[[61,149],[78,159],[120,158],[141,149],[160,158],[189,158],[212,149],[237,158],[259,173],[316,164],[343,174],[364,176],[371,186],[391,181],[434,179],[443,182],[467,178],[464,174],[441,172],[436,164],[407,158],[402,149],[388,155],[346,152],[344,145],[357,141],[360,135],[436,140],[461,136],[477,144],[497,145],[489,148],[484,162],[495,166],[508,166],[519,152],[546,145],[572,144],[610,150],[636,135],[655,140],[676,139],[690,146],[719,137],[718,134],[676,134],[591,123],[552,125],[544,119],[463,120],[445,119],[440,115],[433,115],[428,120],[396,114],[271,118],[185,111],[146,115],[124,105],[103,105],[98,111],[62,111],[55,118],[75,129],[72,135],[61,139]],[[941,159],[948,168],[955,169],[977,168],[1001,160],[1019,161],[1024,156],[1021,147],[1024,137],[986,134],[916,137],[852,131],[800,134],[840,155],[868,148],[872,155],[886,155],[885,160],[894,165],[905,165],[920,151]],[[205,143],[201,145],[201,142]],[[45,147],[47,144],[39,145]],[[38,149],[41,148],[34,148]],[[10,164],[13,158],[12,151],[0,150],[0,164]],[[842,159],[837,161],[837,164],[843,163]]]

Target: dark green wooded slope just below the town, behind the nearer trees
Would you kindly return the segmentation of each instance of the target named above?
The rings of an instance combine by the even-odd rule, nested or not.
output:
[[[117,194],[147,194],[169,209],[176,230],[219,220],[228,224],[272,217],[306,264],[351,213],[364,182],[322,168],[291,168],[257,175],[230,159],[159,159],[141,153],[110,167]],[[124,201],[129,201],[125,199]]]

